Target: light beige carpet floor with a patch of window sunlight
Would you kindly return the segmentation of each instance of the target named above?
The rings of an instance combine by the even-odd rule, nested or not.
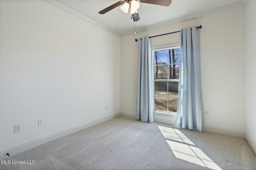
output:
[[[256,170],[245,139],[117,117],[5,159],[1,170]],[[12,161],[34,164],[12,164]]]

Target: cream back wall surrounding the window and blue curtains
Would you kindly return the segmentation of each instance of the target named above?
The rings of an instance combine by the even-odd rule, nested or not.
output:
[[[136,115],[137,43],[184,27],[202,25],[200,64],[203,125],[245,132],[245,8],[121,37],[121,112]],[[152,47],[179,43],[175,33],[152,38]]]

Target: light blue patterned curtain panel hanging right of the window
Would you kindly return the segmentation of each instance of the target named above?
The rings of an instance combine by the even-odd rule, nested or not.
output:
[[[176,126],[202,131],[199,29],[188,27],[180,36],[180,78]]]

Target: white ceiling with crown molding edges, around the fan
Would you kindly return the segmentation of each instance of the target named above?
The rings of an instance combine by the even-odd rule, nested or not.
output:
[[[98,13],[120,0],[44,1],[116,35],[123,36],[134,32],[134,22],[130,19],[130,14],[122,12],[120,6],[103,15]],[[247,1],[172,0],[172,4],[168,7],[140,2],[138,9],[140,20],[136,22],[136,32],[240,8],[245,6]]]

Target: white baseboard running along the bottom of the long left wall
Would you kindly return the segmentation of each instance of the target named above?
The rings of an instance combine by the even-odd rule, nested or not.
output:
[[[102,117],[100,119],[88,122],[84,125],[73,127],[71,129],[67,129],[65,131],[61,131],[61,132],[58,132],[58,133],[55,133],[55,134],[52,134],[52,135],[49,135],[49,136],[46,136],[46,137],[43,137],[43,138],[40,138],[40,139],[36,139],[36,140],[28,142],[28,143],[24,143],[22,145],[18,145],[16,147],[13,147],[13,148],[10,148],[10,149],[6,149],[6,150],[0,152],[0,160],[3,160],[5,158],[9,157],[9,156],[6,155],[6,153],[9,153],[10,156],[13,156],[15,154],[18,154],[20,152],[24,152],[25,150],[28,150],[28,149],[32,149],[32,148],[37,147],[39,145],[42,145],[44,143],[48,143],[48,142],[53,141],[55,139],[58,139],[60,137],[70,135],[70,134],[75,133],[77,131],[86,129],[88,127],[97,125],[99,123],[102,123],[104,121],[114,119],[115,117],[119,117],[120,115],[121,115],[121,113],[116,113],[114,115],[109,115],[109,116],[106,116],[106,117]]]

